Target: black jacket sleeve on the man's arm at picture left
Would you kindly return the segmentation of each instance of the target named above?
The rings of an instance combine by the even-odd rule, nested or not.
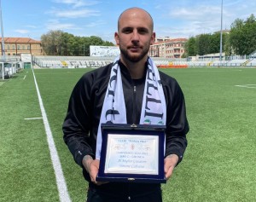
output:
[[[64,134],[63,139],[70,152],[73,154],[73,159],[81,167],[83,167],[82,160],[85,155],[90,155],[94,158],[92,148],[89,144],[91,125],[91,82],[91,78],[84,75],[75,85],[69,99],[67,116],[62,126]]]

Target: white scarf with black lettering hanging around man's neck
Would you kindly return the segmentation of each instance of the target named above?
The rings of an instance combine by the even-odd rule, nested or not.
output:
[[[100,159],[101,156],[101,125],[109,121],[113,124],[127,124],[119,57],[113,62],[108,89],[102,106],[102,114],[96,141],[96,159]],[[140,124],[166,125],[166,99],[160,82],[158,69],[149,57]]]

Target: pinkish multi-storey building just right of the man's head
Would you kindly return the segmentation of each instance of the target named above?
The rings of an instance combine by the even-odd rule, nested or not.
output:
[[[152,57],[181,58],[185,53],[184,45],[187,38],[173,38],[168,41],[154,43],[150,46],[148,55]]]

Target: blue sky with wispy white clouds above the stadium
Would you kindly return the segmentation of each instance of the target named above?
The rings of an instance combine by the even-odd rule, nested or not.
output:
[[[113,42],[119,14],[146,9],[157,38],[190,38],[221,28],[222,0],[0,0],[4,38],[40,40],[51,30]],[[223,0],[223,29],[256,16],[256,0]]]

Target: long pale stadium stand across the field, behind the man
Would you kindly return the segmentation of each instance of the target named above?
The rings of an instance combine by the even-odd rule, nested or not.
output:
[[[186,59],[171,59],[152,57],[154,63],[162,68],[186,68],[186,67],[203,67],[203,66],[230,66],[230,67],[255,67],[256,52],[249,59],[230,58],[230,61],[218,60],[201,60],[187,61]],[[33,66],[40,68],[86,68],[106,66],[113,62],[114,57],[96,57],[96,56],[33,56]]]

